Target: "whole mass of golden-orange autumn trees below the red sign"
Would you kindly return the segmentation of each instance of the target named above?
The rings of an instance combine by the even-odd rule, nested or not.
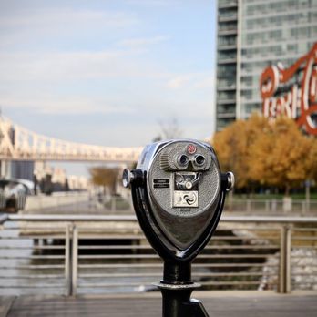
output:
[[[302,135],[289,118],[237,120],[216,133],[213,146],[221,168],[234,172],[237,188],[256,182],[288,194],[302,181],[317,178],[316,140]]]

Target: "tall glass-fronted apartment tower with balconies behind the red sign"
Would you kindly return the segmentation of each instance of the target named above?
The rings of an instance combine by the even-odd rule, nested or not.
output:
[[[216,129],[261,111],[264,68],[289,67],[316,42],[317,0],[218,0]]]

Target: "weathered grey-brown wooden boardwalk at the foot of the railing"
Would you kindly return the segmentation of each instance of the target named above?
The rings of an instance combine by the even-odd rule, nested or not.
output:
[[[278,295],[272,292],[195,293],[210,317],[316,317],[317,295]],[[1,317],[159,317],[158,293],[134,295],[21,296],[0,298]],[[2,310],[1,310],[2,308]],[[7,312],[6,312],[7,311]]]

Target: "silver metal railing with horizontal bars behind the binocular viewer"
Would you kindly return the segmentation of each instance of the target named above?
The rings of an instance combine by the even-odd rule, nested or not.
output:
[[[2,215],[0,294],[150,291],[162,263],[134,215]],[[317,218],[222,217],[203,290],[316,290]]]

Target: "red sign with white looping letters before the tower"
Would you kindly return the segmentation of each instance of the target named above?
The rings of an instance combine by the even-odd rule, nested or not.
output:
[[[317,135],[317,43],[289,68],[264,69],[260,79],[262,111],[267,118],[293,118],[306,132]]]

